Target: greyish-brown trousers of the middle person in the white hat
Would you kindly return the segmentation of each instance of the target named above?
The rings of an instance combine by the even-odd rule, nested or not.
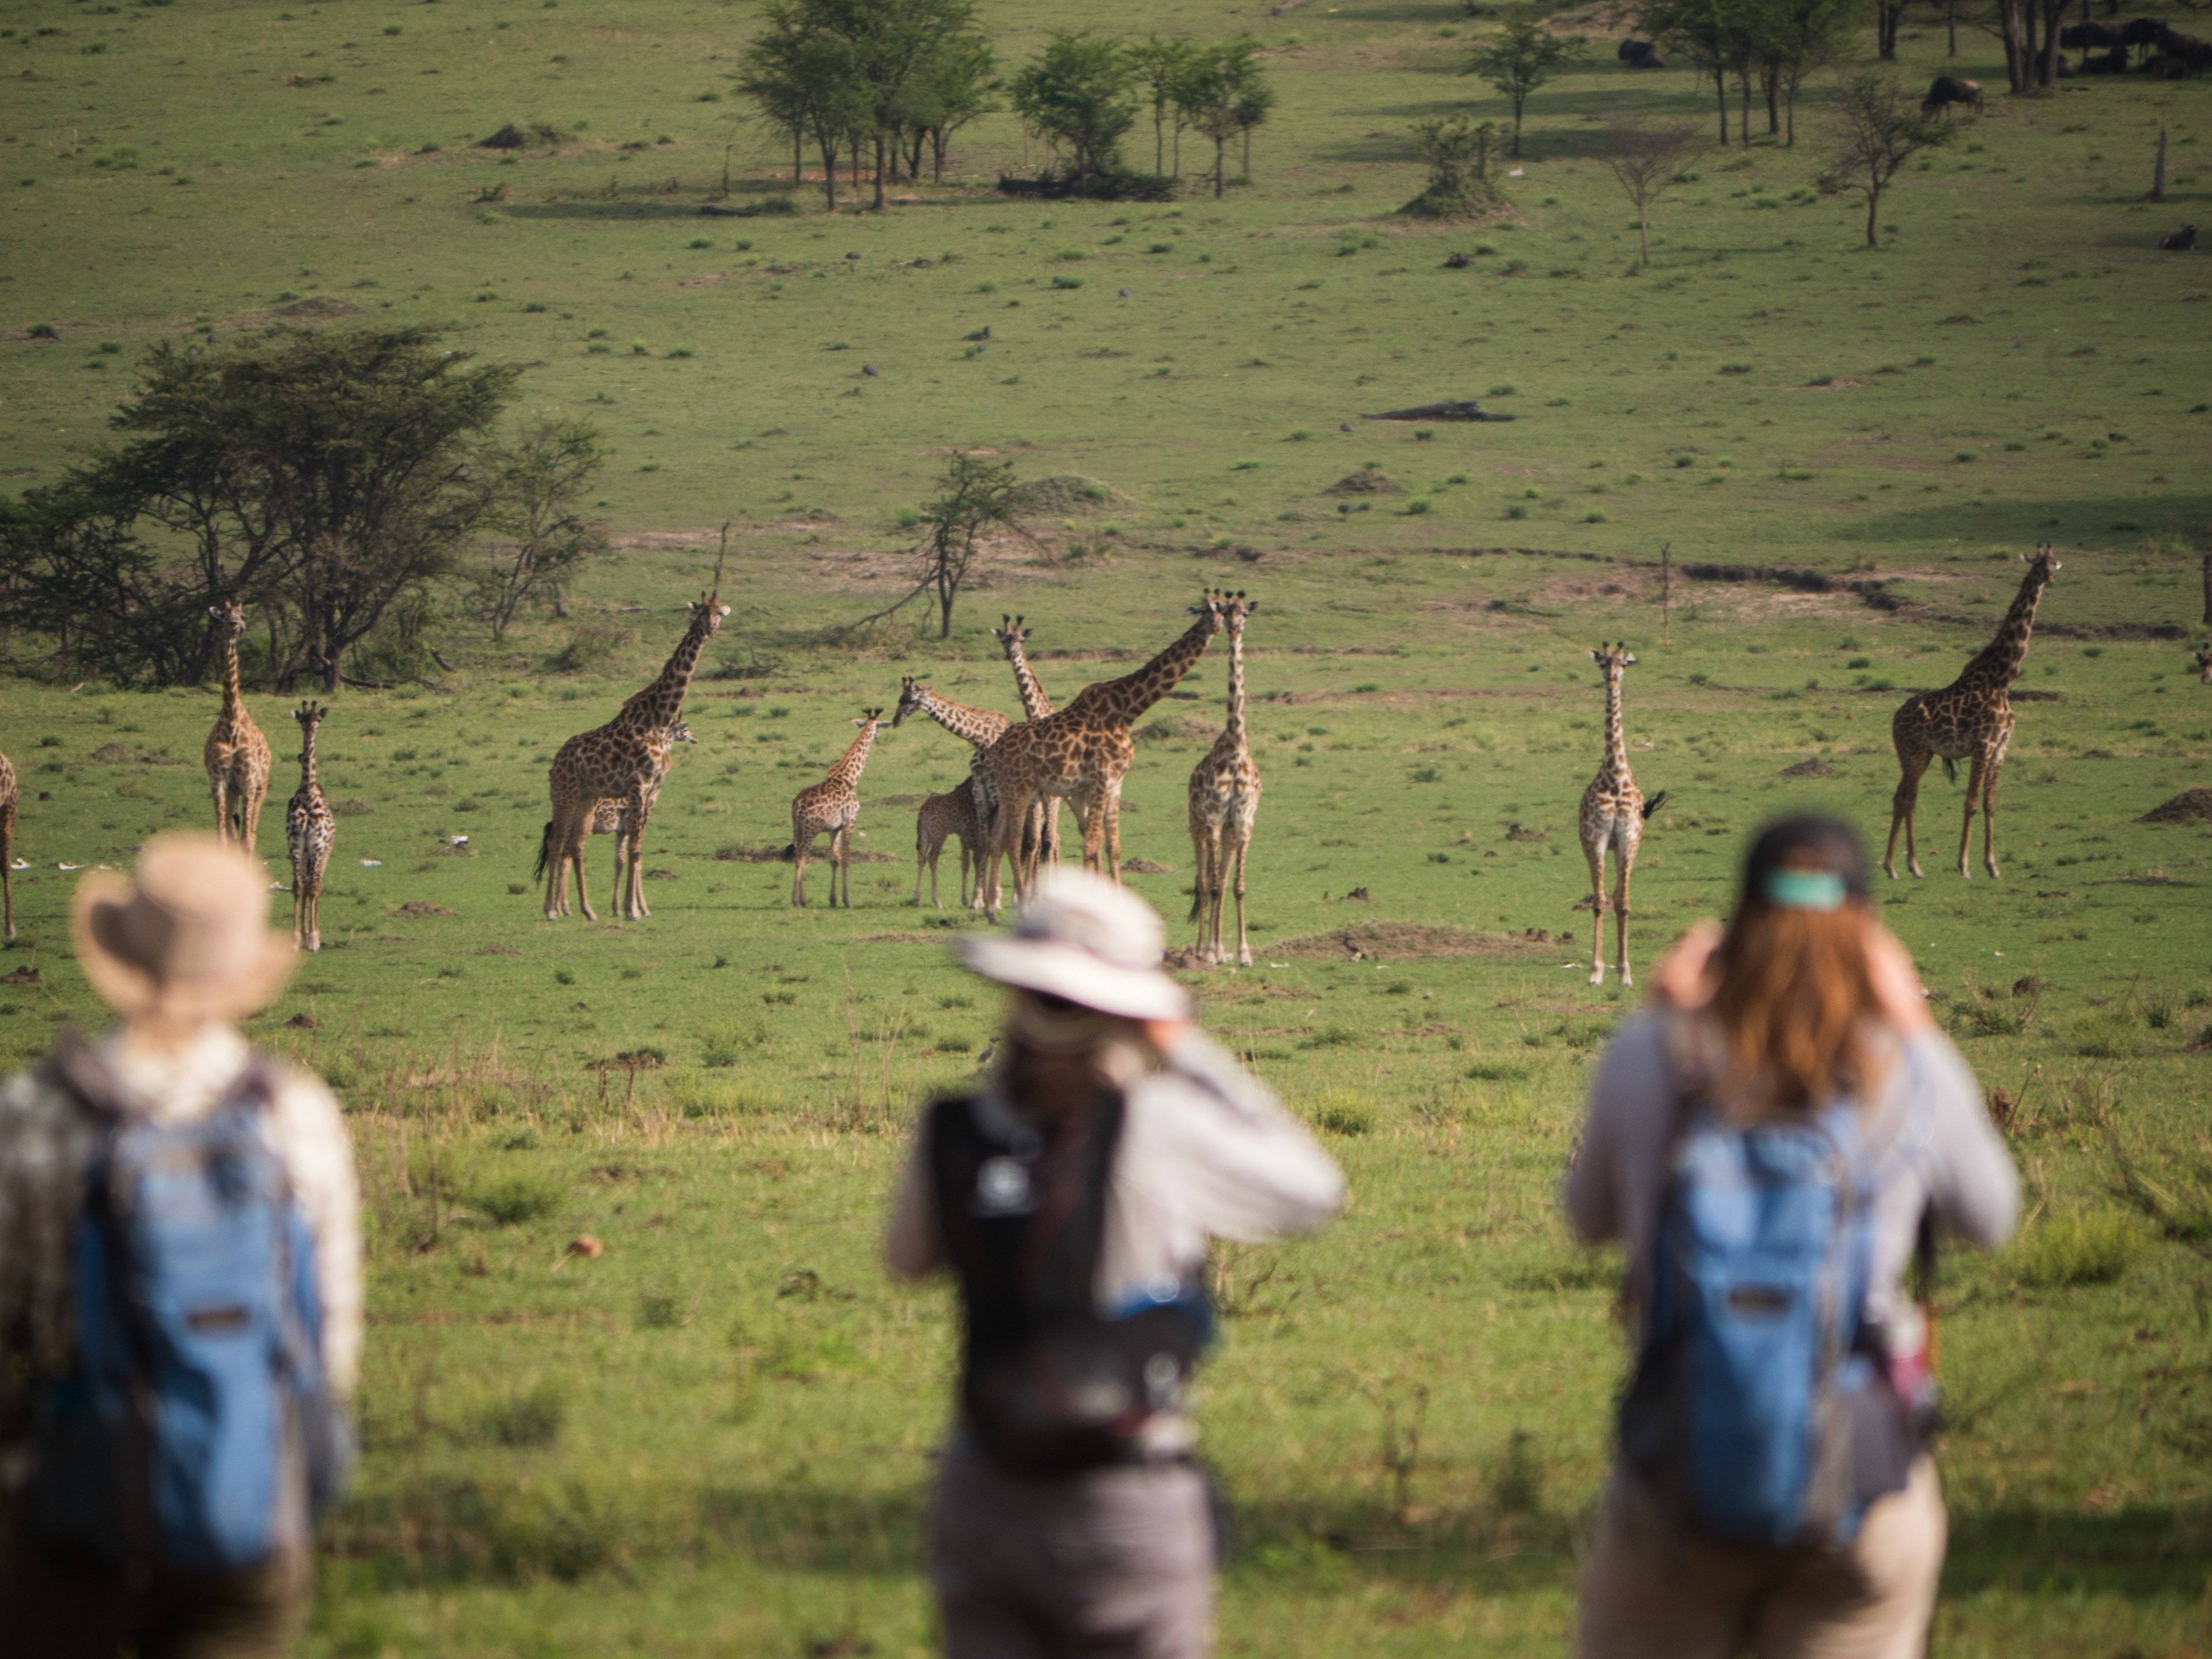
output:
[[[1015,1478],[953,1436],[929,1528],[949,1659],[1203,1659],[1214,1522],[1188,1462]]]

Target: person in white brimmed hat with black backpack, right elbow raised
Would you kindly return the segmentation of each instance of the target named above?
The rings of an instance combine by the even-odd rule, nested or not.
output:
[[[1343,1175],[1190,1024],[1135,894],[1048,869],[1006,933],[956,945],[1009,989],[998,1060],[922,1117],[885,1254],[949,1270],[958,1413],[931,1520],[951,1659],[1146,1655],[1212,1639],[1194,1462],[1210,1239],[1307,1232]]]

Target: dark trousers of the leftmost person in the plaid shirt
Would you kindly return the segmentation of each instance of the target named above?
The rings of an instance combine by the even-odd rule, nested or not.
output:
[[[0,1652],[9,1659],[290,1659],[314,1568],[292,1551],[248,1573],[159,1573],[13,1546],[0,1528]]]

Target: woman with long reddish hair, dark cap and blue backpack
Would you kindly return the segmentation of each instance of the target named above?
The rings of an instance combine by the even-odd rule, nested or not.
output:
[[[1767,827],[1615,1037],[1566,1177],[1628,1250],[1637,1365],[1582,1579],[1582,1659],[1918,1659],[1944,1555],[1936,1232],[2020,1183],[1832,818]]]

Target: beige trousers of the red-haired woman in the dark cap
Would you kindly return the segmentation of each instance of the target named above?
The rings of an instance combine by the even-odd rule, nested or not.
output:
[[[1615,1471],[1582,1575],[1579,1659],[1920,1659],[1944,1513],[1936,1464],[1867,1509],[1845,1551],[1686,1535]]]

